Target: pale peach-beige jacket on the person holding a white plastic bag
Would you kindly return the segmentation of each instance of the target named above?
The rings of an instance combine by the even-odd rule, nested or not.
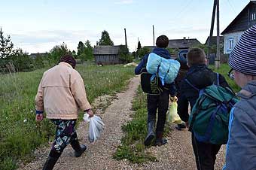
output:
[[[35,96],[35,109],[45,111],[48,119],[78,118],[79,108],[90,109],[81,75],[66,62],[44,72]]]

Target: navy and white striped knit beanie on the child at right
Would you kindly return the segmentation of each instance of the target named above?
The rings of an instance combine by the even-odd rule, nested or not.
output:
[[[241,35],[230,53],[228,64],[243,74],[256,75],[256,25]]]

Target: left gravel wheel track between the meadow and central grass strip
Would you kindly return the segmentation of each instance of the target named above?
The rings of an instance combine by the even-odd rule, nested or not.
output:
[[[118,93],[117,99],[114,99],[111,105],[105,110],[105,114],[100,115],[105,123],[105,129],[102,132],[99,141],[90,144],[87,140],[88,126],[80,123],[78,126],[78,138],[81,143],[87,143],[88,149],[85,154],[75,158],[72,147],[69,145],[60,156],[59,161],[53,169],[61,170],[80,170],[80,169],[131,169],[129,162],[117,161],[112,159],[112,155],[120,144],[123,132],[121,126],[127,120],[130,120],[132,100],[136,95],[139,86],[139,77],[134,77],[128,89],[124,93]],[[44,149],[43,149],[44,150]],[[41,169],[47,159],[50,151],[50,144],[46,150],[38,153],[34,162],[23,166],[20,169]]]

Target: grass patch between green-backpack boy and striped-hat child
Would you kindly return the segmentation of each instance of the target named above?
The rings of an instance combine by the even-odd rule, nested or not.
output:
[[[236,85],[235,80],[231,80],[230,77],[227,76],[228,71],[230,71],[229,65],[221,64],[221,67],[218,69],[216,69],[214,65],[210,65],[209,68],[211,68],[215,72],[222,74],[234,92],[239,92],[241,90],[241,88]]]

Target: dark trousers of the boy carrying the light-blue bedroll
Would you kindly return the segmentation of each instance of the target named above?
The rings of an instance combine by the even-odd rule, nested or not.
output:
[[[156,120],[158,109],[156,132],[163,132],[166,123],[166,112],[169,106],[169,91],[163,90],[159,96],[148,95],[148,123]]]

